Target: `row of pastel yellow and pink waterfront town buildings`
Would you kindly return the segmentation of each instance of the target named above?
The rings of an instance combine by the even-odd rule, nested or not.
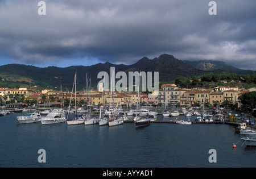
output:
[[[77,93],[77,101],[82,101],[84,104],[88,102],[90,105],[109,105],[114,103],[115,106],[133,106],[137,102],[142,102],[148,105],[168,105],[168,106],[200,106],[200,105],[220,105],[224,101],[228,101],[233,105],[241,107],[241,102],[238,99],[243,93],[247,93],[253,89],[238,89],[237,87],[224,87],[218,86],[214,89],[181,89],[175,84],[162,85],[159,91],[154,91],[151,94],[138,95],[137,92],[118,92],[114,91],[113,94],[110,91],[104,93],[97,90],[80,91]],[[65,99],[75,99],[75,94],[70,92],[55,91],[55,90],[43,90],[41,93],[35,93],[32,90],[26,88],[19,89],[7,89],[0,88],[0,97],[9,101],[10,94],[13,96],[16,94],[24,95],[26,100],[36,100],[38,103],[49,103],[52,101],[63,102]],[[111,98],[113,95],[113,98]]]

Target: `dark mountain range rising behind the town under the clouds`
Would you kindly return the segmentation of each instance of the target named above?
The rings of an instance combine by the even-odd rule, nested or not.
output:
[[[163,54],[152,60],[143,57],[132,65],[119,64],[115,65],[109,62],[99,63],[91,66],[69,66],[67,68],[59,68],[56,66],[48,66],[47,68],[39,68],[31,65],[9,64],[0,66],[0,86],[6,84],[19,85],[20,87],[39,86],[40,88],[71,90],[73,86],[73,78],[77,72],[77,88],[86,88],[86,74],[91,79],[91,86],[95,86],[101,79],[97,78],[99,72],[107,72],[110,78],[110,67],[115,67],[115,73],[123,71],[128,72],[159,72],[159,81],[170,82],[177,77],[193,77],[209,72],[222,72],[230,69],[239,73],[245,71],[236,68],[228,68],[228,64],[216,61],[182,61],[176,59],[172,55]],[[251,71],[253,72],[253,71]],[[128,77],[128,75],[127,75]],[[4,81],[3,81],[4,80]],[[118,79],[117,79],[118,80]],[[110,79],[109,79],[110,81]],[[128,80],[127,80],[128,81]]]

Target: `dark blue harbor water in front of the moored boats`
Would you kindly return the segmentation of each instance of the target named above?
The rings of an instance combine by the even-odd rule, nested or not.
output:
[[[0,117],[0,167],[256,166],[256,148],[246,147],[227,124],[151,123],[144,128],[133,123],[113,127],[19,124],[16,116],[25,114]],[[175,119],[158,115],[158,120]],[[187,120],[185,116],[177,119]],[[39,149],[46,151],[46,163],[39,163]],[[216,162],[209,160],[210,149],[216,150]]]

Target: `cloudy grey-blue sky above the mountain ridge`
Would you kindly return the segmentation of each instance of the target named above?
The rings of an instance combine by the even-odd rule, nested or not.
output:
[[[130,65],[167,53],[256,70],[255,0],[214,1],[216,15],[207,0],[39,2],[0,1],[0,65]]]

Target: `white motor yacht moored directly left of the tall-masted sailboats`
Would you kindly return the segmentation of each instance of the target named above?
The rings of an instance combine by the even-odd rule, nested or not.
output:
[[[41,119],[41,123],[43,125],[56,124],[56,123],[61,123],[61,122],[66,122],[66,117],[65,117],[65,114],[58,113],[58,112],[51,112],[51,113],[47,114],[46,117]]]

